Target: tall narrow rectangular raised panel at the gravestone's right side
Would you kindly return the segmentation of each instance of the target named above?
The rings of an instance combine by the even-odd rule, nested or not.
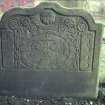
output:
[[[81,59],[80,68],[81,70],[92,70],[92,59],[93,59],[93,45],[94,32],[87,32],[85,35],[82,34],[81,38]]]

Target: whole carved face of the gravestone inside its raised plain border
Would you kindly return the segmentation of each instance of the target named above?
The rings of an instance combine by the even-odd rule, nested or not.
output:
[[[4,67],[14,63],[33,70],[92,70],[95,32],[82,17],[47,9],[35,16],[9,17],[5,28],[14,35],[2,36]]]

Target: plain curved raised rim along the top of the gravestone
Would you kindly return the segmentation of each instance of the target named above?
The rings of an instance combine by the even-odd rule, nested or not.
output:
[[[14,15],[34,16],[36,14],[43,14],[43,12],[46,12],[47,10],[51,12],[50,14],[54,12],[55,14],[53,13],[53,15],[60,14],[61,16],[64,16],[64,15],[65,16],[80,16],[88,23],[91,29],[95,28],[95,22],[93,20],[93,17],[88,12],[84,11],[83,9],[68,9],[68,8],[61,6],[60,4],[53,3],[53,2],[52,3],[48,3],[48,2],[40,3],[35,8],[24,8],[24,9],[23,8],[13,8],[7,11],[3,15],[1,21],[5,21],[7,20],[7,18],[10,18],[11,16],[14,16]]]

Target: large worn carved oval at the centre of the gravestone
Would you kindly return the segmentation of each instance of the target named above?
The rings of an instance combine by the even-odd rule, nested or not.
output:
[[[69,44],[55,32],[43,32],[21,41],[21,62],[34,68],[57,68],[69,56]]]

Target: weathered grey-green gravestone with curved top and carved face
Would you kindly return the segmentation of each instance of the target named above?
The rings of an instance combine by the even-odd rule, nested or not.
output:
[[[83,10],[42,3],[0,22],[0,95],[96,98],[102,26]]]

